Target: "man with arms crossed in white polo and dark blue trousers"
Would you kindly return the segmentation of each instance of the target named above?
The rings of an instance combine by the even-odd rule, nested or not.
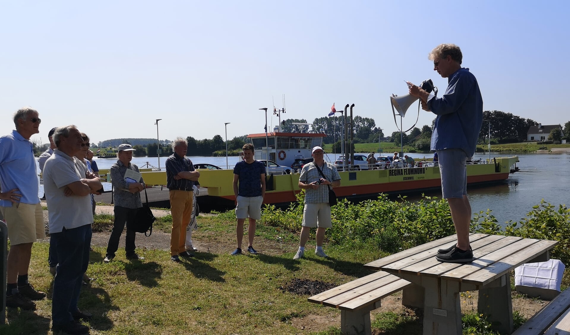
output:
[[[75,126],[56,129],[54,142],[58,148],[44,167],[50,235],[58,259],[52,295],[52,330],[86,334],[89,327],[77,321],[91,318],[91,314],[78,308],[91,245],[93,214],[89,195],[103,185],[99,176],[87,173],[87,167],[74,157],[83,144]]]

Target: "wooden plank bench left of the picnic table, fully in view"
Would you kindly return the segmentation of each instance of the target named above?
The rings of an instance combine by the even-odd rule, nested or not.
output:
[[[412,286],[407,280],[378,271],[314,295],[307,300],[340,309],[340,330],[343,334],[370,334],[370,311],[380,307],[380,300]],[[414,306],[422,305],[413,303]]]

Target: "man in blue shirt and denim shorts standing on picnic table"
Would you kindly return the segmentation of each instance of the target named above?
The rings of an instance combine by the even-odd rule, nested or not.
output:
[[[434,71],[447,78],[447,89],[436,98],[410,84],[412,96],[420,97],[422,109],[431,111],[435,126],[431,150],[437,152],[443,198],[449,202],[451,218],[457,231],[457,244],[439,249],[437,260],[469,263],[474,260],[469,244],[471,205],[467,199],[467,158],[475,153],[483,123],[483,98],[475,76],[462,68],[463,55],[455,44],[440,44],[429,54]]]

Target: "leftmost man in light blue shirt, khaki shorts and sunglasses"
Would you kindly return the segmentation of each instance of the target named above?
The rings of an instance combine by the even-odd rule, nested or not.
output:
[[[33,144],[30,142],[30,137],[39,133],[40,122],[38,111],[22,108],[14,114],[16,130],[0,137],[0,211],[10,239],[7,307],[35,309],[31,300],[46,296],[28,283],[32,243],[46,237]]]

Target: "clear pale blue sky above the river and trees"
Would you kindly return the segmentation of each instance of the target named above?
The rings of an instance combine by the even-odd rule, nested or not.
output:
[[[570,119],[568,2],[103,1],[0,5],[0,134],[31,106],[47,142],[75,124],[92,142],[262,133],[272,97],[284,118],[355,104],[385,134],[404,80],[447,80],[427,54],[455,43],[485,110],[543,124]],[[565,23],[566,22],[566,23]],[[415,107],[414,107],[415,108]],[[268,123],[276,125],[268,113]],[[408,129],[417,112],[404,118]],[[418,127],[433,114],[420,111]]]

